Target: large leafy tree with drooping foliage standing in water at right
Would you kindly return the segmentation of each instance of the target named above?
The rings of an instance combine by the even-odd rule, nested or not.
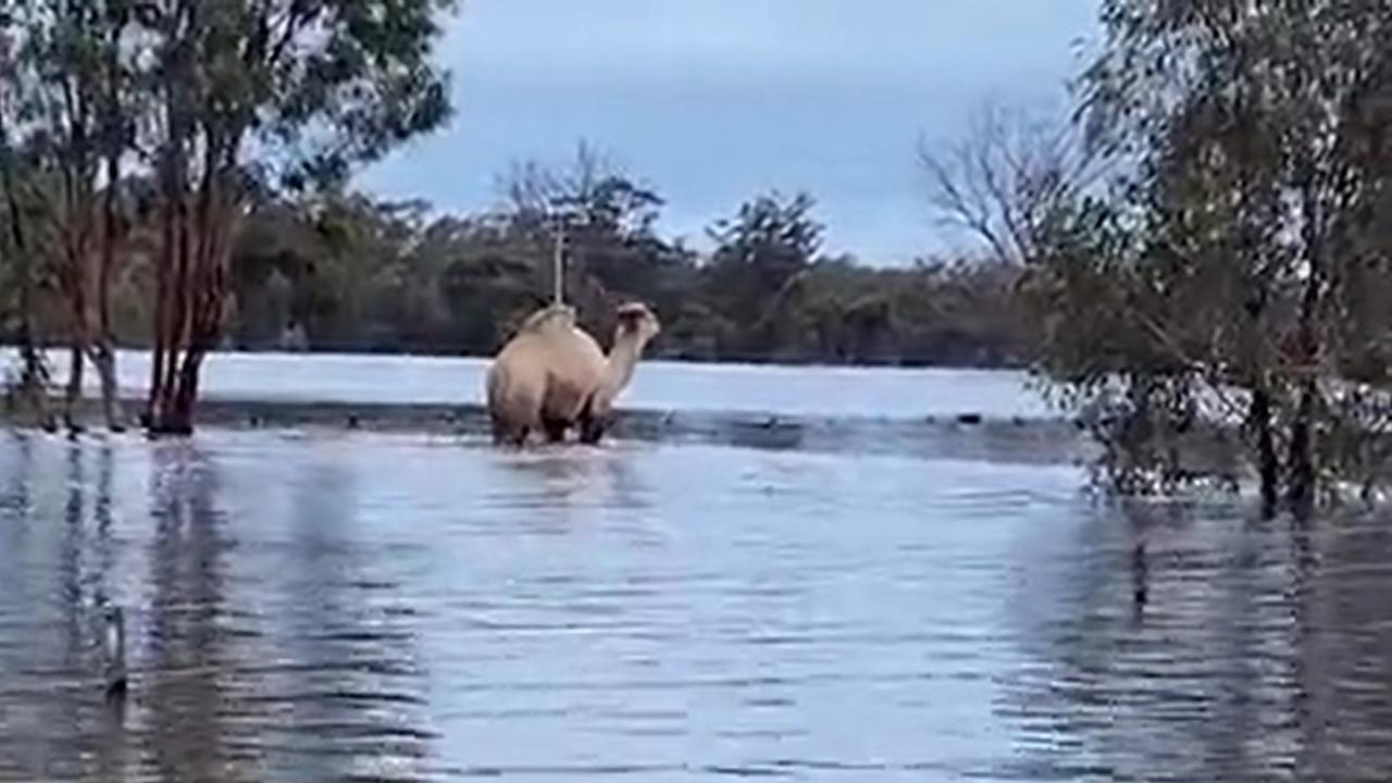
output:
[[[1240,424],[1271,507],[1370,485],[1392,398],[1373,305],[1392,286],[1392,4],[1107,0],[1101,20],[1083,117],[1118,174],[1034,234],[1041,369],[1132,432],[1123,489],[1175,472],[1155,444],[1199,410]]]

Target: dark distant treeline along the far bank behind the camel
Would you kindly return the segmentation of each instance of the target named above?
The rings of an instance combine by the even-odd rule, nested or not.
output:
[[[550,297],[562,237],[565,295],[585,325],[603,340],[618,302],[649,302],[664,323],[656,355],[959,366],[1026,358],[1011,268],[877,269],[830,255],[806,195],[750,199],[711,224],[714,249],[696,252],[657,230],[657,192],[583,145],[564,170],[518,167],[505,192],[504,208],[459,216],[359,192],[267,195],[232,241],[220,346],[489,355]],[[131,244],[111,294],[122,346],[155,341],[153,230]],[[39,334],[61,343],[60,302],[42,300]],[[7,327],[13,339],[17,325]]]

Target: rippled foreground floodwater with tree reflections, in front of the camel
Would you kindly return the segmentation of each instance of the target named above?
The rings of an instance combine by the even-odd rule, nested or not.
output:
[[[3,435],[0,779],[1384,777],[1384,520],[1076,486],[735,447]]]

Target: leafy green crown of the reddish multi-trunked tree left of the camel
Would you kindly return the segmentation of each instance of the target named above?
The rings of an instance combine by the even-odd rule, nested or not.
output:
[[[136,6],[152,54],[136,78],[171,123],[156,145],[189,132],[245,144],[264,183],[302,189],[450,117],[448,74],[432,59],[450,0]]]

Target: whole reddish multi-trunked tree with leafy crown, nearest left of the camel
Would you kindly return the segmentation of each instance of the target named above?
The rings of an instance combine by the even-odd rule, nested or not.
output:
[[[258,191],[341,184],[450,117],[436,60],[451,0],[141,4],[135,146],[159,183],[153,432],[192,428],[228,307],[228,258]]]

